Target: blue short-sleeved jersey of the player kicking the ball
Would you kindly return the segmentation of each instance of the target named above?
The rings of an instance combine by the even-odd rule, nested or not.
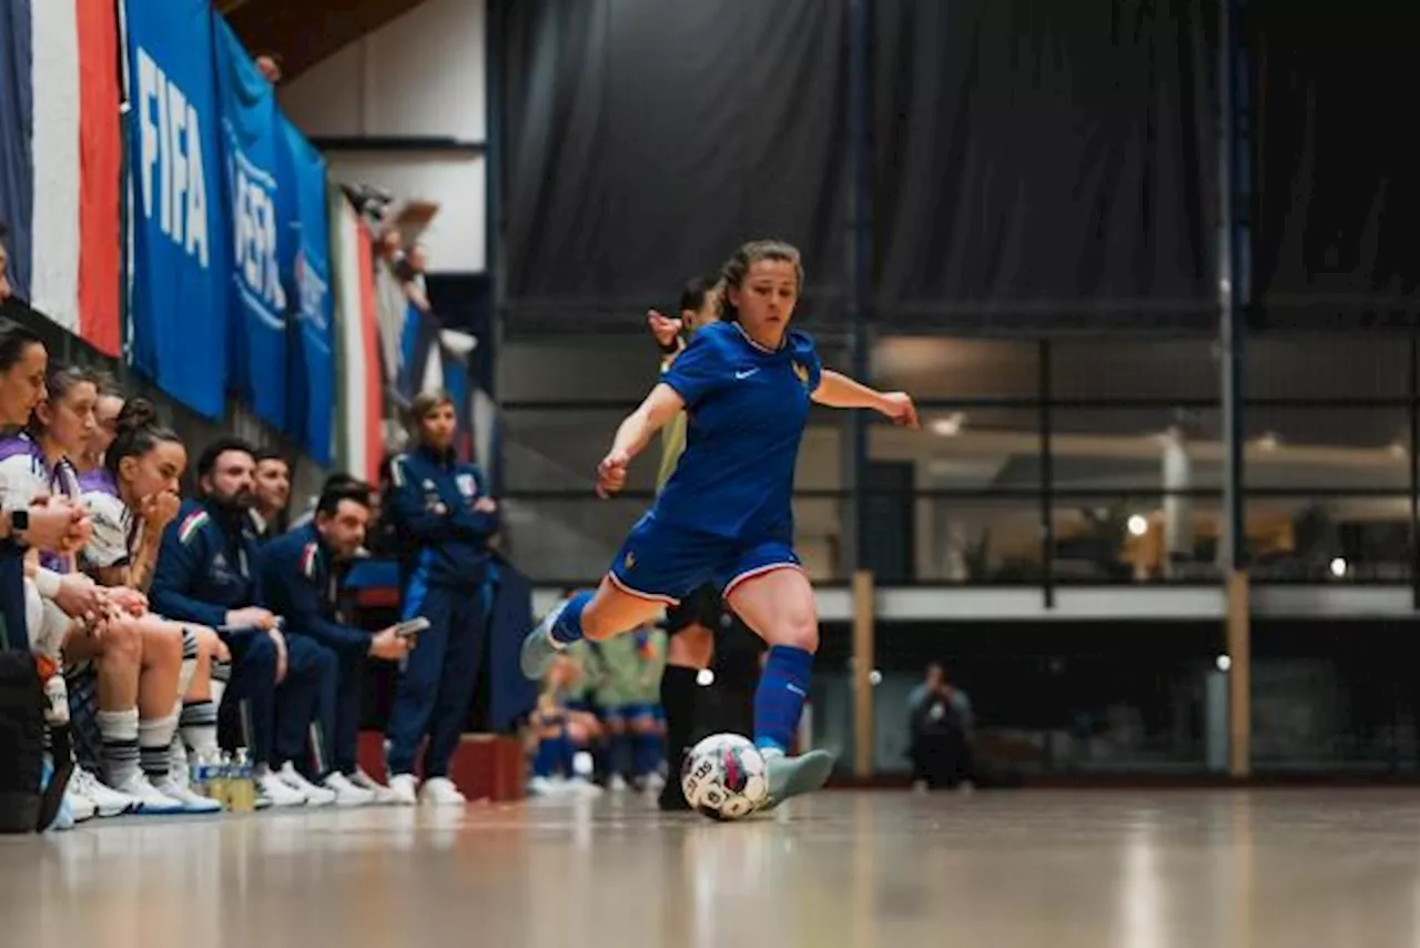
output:
[[[822,372],[804,333],[768,350],[738,323],[697,331],[660,378],[690,426],[655,517],[723,537],[791,537],[794,465]]]

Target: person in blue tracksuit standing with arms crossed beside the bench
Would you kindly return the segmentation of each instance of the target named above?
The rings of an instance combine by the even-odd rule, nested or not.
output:
[[[498,506],[483,472],[454,460],[453,402],[442,392],[419,395],[412,408],[417,446],[390,465],[388,509],[399,542],[402,617],[425,617],[399,679],[389,715],[389,789],[413,803],[415,758],[425,752],[426,803],[463,803],[449,760],[473,702],[487,631],[484,587],[488,537]]]

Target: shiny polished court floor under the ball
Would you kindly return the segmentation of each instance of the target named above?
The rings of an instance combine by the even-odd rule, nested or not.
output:
[[[1420,944],[1420,789],[636,796],[0,837],[0,945]]]

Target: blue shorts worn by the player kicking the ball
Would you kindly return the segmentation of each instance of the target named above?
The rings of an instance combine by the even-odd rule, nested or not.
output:
[[[723,537],[648,513],[622,543],[609,574],[623,593],[674,605],[706,583],[728,596],[750,577],[798,566],[784,537]]]

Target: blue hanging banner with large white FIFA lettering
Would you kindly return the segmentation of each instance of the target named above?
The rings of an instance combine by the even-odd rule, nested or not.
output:
[[[45,0],[48,1],[48,0]],[[220,418],[227,384],[227,215],[209,0],[129,0],[129,361]]]

